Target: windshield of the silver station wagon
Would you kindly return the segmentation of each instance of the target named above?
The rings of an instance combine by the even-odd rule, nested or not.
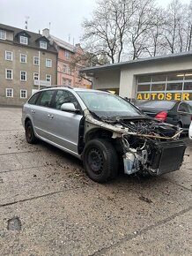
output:
[[[141,112],[121,97],[103,92],[77,92],[87,109],[99,117],[140,117]]]

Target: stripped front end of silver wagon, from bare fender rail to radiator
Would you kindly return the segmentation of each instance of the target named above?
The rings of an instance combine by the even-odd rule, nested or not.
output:
[[[129,123],[133,124],[134,122],[130,121]],[[85,132],[100,127],[100,129],[112,132],[113,139],[121,141],[126,174],[148,172],[152,176],[159,176],[181,167],[186,149],[185,143],[179,140],[181,128],[175,130],[174,135],[170,137],[157,132],[135,132],[130,129],[130,125],[108,124],[97,120],[92,117],[88,109],[85,109],[85,124],[89,127],[87,130],[85,128]],[[171,124],[160,125],[174,127]],[[148,129],[150,131],[151,127]],[[129,143],[131,138],[139,141],[138,144],[136,143],[136,147],[132,147]]]

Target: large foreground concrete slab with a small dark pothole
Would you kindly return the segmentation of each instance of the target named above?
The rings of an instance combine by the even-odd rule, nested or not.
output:
[[[187,194],[183,192],[183,198],[188,198]],[[163,222],[168,216],[172,218],[181,209],[175,201],[169,211],[168,208],[165,211],[162,209],[165,201],[152,207],[131,194],[127,204],[125,200],[118,201],[122,200],[120,193],[116,200],[108,197],[108,193],[104,196],[99,189],[79,188],[3,207],[1,252],[3,255],[30,252],[33,255],[92,255],[100,248],[121,242],[129,234]],[[184,201],[185,207],[188,203]],[[7,230],[8,220],[16,216],[22,223],[21,231]]]

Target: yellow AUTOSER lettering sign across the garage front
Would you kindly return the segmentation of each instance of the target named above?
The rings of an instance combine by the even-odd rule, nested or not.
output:
[[[192,101],[192,93],[137,93],[137,100]]]

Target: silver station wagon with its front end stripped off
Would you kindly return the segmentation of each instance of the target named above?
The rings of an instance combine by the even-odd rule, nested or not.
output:
[[[144,114],[107,92],[50,87],[26,102],[26,141],[42,139],[83,160],[87,175],[103,183],[126,174],[159,176],[180,169],[186,145],[181,128]]]

